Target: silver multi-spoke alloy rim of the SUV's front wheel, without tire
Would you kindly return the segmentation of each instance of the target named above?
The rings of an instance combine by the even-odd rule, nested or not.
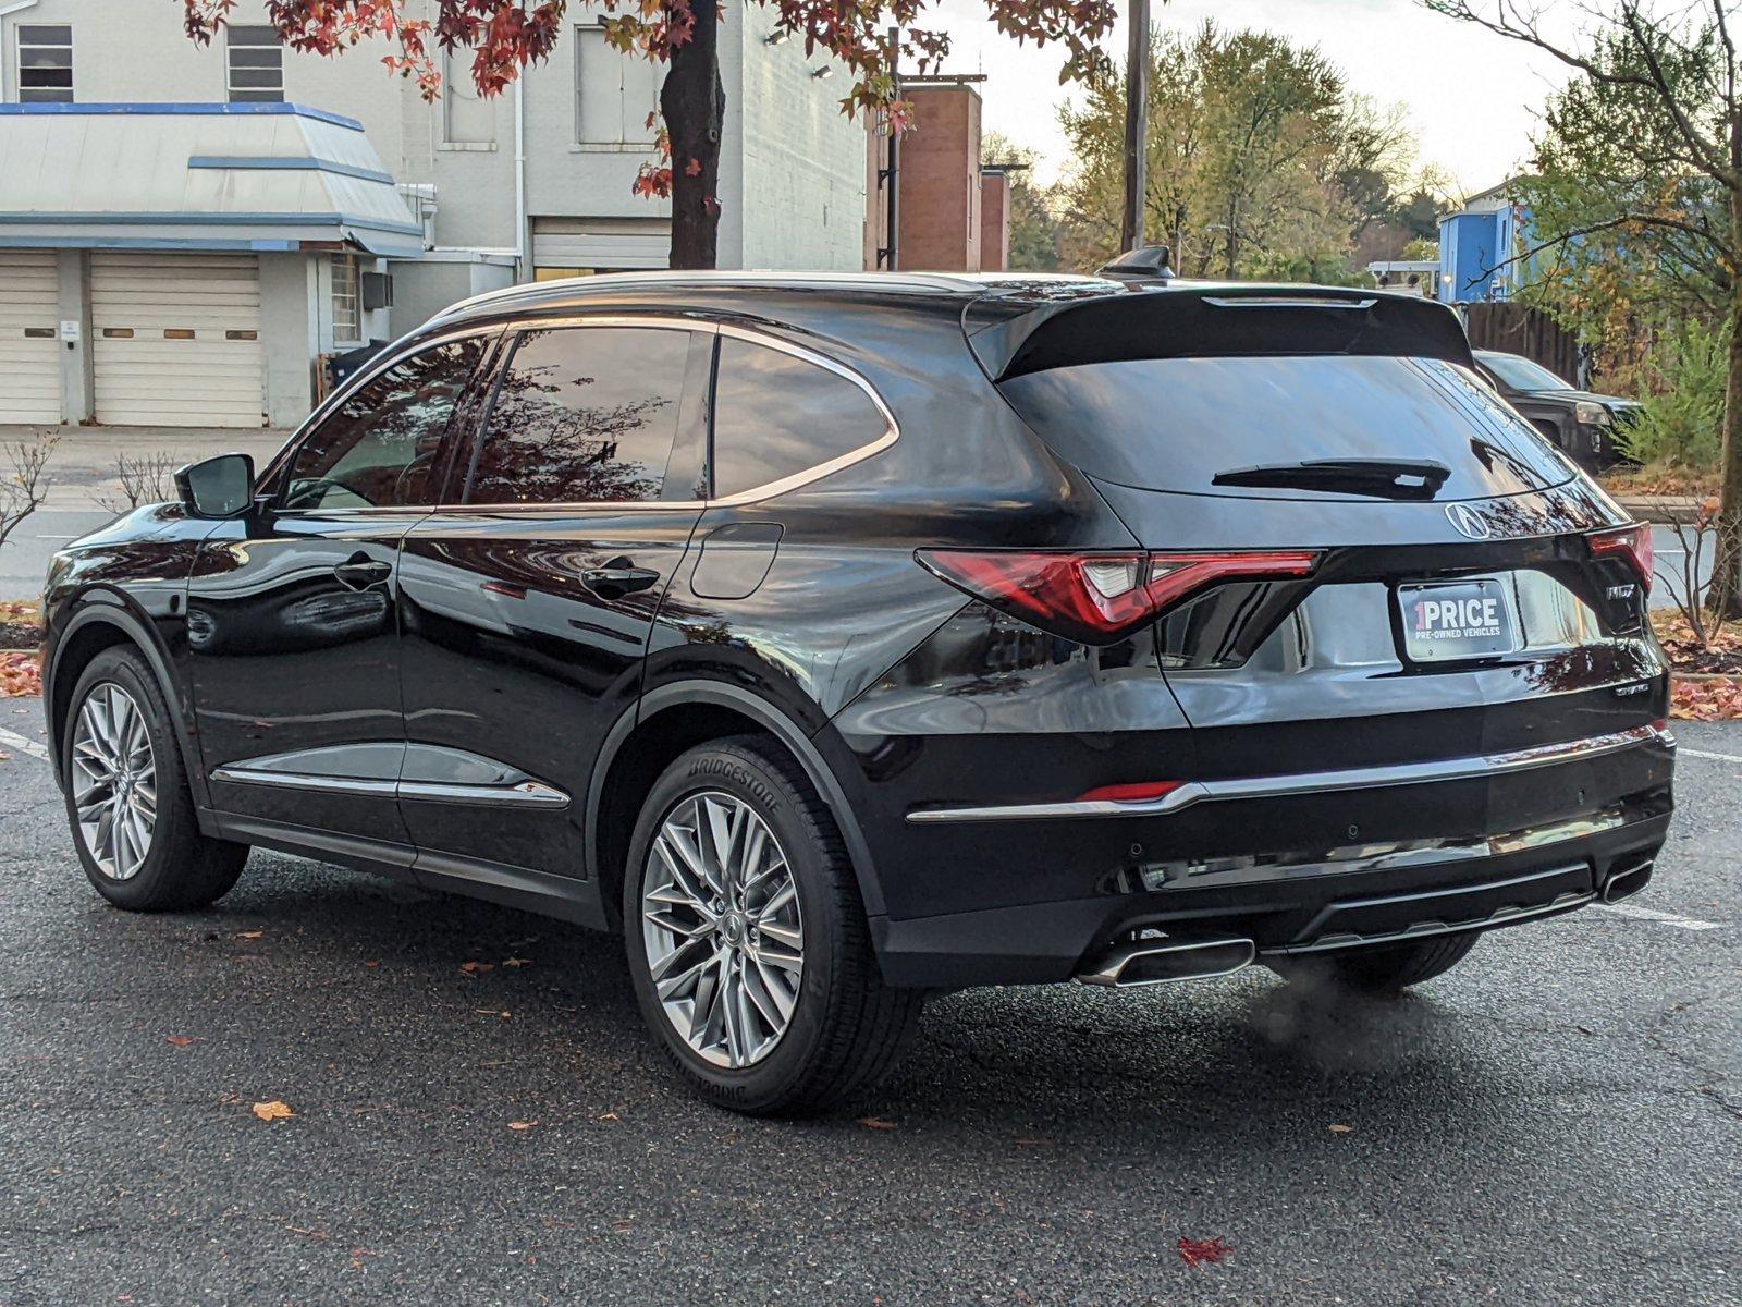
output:
[[[92,687],[78,708],[71,786],[85,852],[111,880],[136,877],[157,830],[157,758],[145,713],[113,681]]]

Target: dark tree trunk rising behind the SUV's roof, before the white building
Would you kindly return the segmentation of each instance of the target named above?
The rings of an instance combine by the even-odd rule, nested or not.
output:
[[[658,108],[671,134],[671,267],[712,268],[719,246],[719,9],[692,0],[695,31],[671,54]],[[693,169],[693,171],[692,171]]]

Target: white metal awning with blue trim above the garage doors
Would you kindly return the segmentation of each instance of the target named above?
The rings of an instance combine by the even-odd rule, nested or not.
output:
[[[0,105],[0,249],[423,251],[362,124],[301,105]]]

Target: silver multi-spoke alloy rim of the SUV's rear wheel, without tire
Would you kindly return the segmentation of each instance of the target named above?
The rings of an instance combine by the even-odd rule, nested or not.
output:
[[[665,1019],[716,1067],[766,1058],[805,971],[798,885],[744,800],[688,795],[660,823],[641,885],[641,939]]]

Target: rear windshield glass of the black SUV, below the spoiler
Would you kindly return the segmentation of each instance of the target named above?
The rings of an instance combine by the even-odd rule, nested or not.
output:
[[[1475,373],[1441,359],[1139,359],[1052,368],[998,389],[1061,458],[1143,490],[1350,498],[1334,488],[1214,484],[1219,472],[1326,458],[1442,464],[1441,500],[1517,495],[1575,476]]]

